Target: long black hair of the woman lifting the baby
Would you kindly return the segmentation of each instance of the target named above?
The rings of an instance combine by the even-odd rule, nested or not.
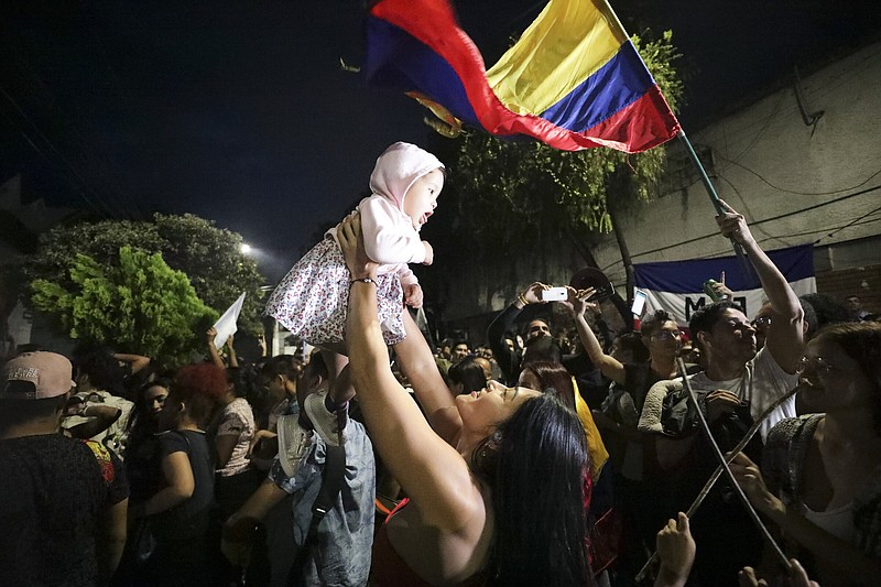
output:
[[[592,585],[587,554],[585,430],[543,394],[526,400],[471,455],[492,490],[489,585]]]

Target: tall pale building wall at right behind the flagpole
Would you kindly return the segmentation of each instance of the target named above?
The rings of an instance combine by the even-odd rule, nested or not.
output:
[[[881,43],[805,77],[803,85],[808,108],[823,110],[815,126],[803,122],[787,87],[689,139],[710,154],[708,173],[719,196],[747,216],[763,248],[878,237],[881,117],[867,113],[881,108]],[[684,157],[678,146],[671,150],[674,167]],[[626,222],[634,262],[730,252],[704,186],[695,174],[684,178]],[[610,276],[623,279],[613,242],[595,254]],[[825,270],[836,269],[831,259]]]

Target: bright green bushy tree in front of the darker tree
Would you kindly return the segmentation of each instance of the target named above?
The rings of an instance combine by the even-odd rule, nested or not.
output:
[[[166,365],[192,360],[217,313],[196,295],[187,276],[159,253],[122,247],[117,261],[77,254],[69,282],[36,279],[34,306],[59,318],[70,338],[110,345]]]

